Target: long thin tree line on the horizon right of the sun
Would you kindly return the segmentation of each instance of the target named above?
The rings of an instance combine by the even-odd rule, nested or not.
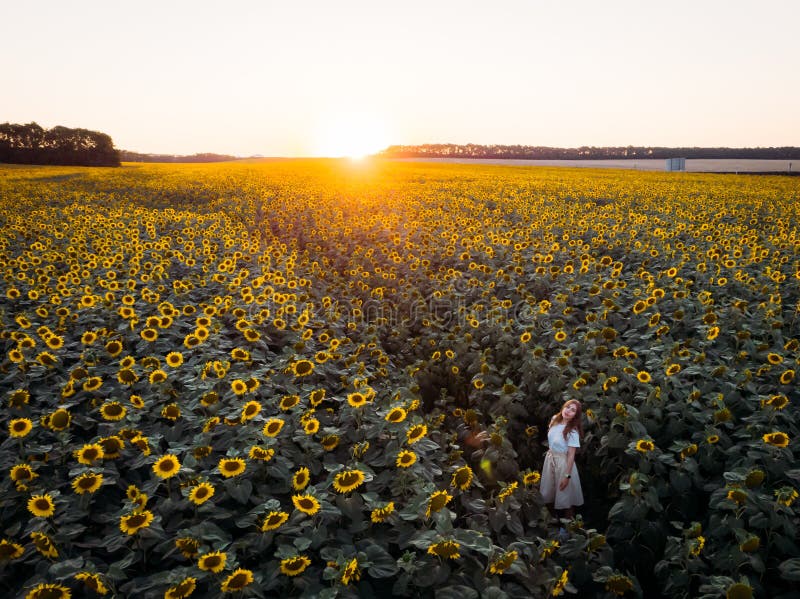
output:
[[[387,158],[501,158],[517,160],[620,160],[644,158],[747,158],[798,160],[798,147],[698,148],[698,147],[595,147],[552,148],[548,146],[422,144],[389,146],[379,153]]]

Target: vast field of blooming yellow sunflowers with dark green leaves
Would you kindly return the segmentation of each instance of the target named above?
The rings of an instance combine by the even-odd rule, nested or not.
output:
[[[797,178],[0,167],[0,226],[4,597],[796,597]]]

